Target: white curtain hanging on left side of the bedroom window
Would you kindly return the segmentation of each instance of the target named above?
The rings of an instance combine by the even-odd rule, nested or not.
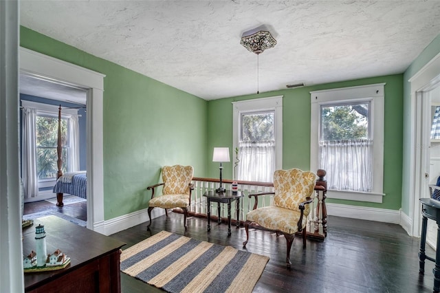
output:
[[[25,198],[39,195],[39,180],[36,174],[36,109],[23,108],[23,186]]]

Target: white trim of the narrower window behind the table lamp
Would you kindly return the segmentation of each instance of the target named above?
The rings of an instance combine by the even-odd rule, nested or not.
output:
[[[239,133],[241,127],[239,121],[241,113],[267,110],[275,111],[275,168],[283,169],[283,96],[232,102],[232,108],[233,149],[239,145]]]

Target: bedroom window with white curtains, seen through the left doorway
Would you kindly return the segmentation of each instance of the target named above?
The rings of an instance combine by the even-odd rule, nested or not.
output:
[[[23,184],[26,198],[37,197],[39,188],[54,186],[58,171],[58,106],[23,100]],[[63,173],[79,166],[78,110],[61,114]]]

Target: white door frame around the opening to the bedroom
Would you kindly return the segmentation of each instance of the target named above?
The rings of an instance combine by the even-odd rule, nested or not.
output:
[[[87,90],[87,228],[104,234],[102,105],[104,74],[20,47],[20,72]]]

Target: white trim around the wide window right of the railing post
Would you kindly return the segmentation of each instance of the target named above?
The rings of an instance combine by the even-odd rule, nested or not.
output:
[[[373,131],[373,191],[327,191],[327,197],[360,202],[382,203],[384,197],[384,87],[385,83],[311,91],[310,169],[318,170],[320,107],[321,105],[353,100],[371,100],[371,129]]]

